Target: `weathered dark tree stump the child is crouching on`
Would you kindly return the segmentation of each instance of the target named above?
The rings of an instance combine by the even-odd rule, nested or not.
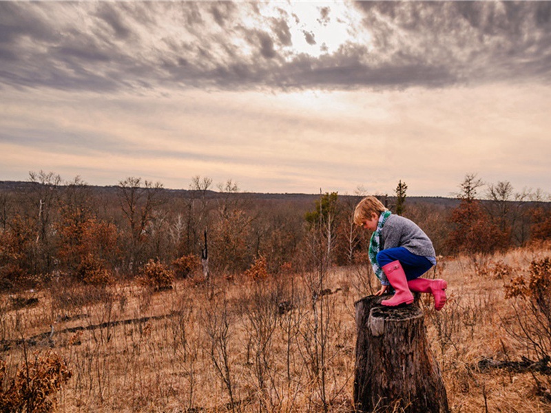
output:
[[[423,311],[381,306],[388,297],[355,303],[357,412],[448,413],[440,368],[426,340]]]

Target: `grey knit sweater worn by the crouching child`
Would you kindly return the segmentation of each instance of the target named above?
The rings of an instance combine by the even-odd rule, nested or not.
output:
[[[435,248],[430,238],[415,222],[400,215],[391,215],[381,231],[382,250],[403,246],[410,253],[422,257],[435,257]]]

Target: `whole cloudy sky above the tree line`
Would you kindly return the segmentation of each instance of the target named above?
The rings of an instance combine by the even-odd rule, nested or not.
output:
[[[551,191],[549,1],[0,1],[0,180]]]

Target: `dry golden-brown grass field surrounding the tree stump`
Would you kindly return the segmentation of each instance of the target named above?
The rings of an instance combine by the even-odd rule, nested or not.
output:
[[[508,279],[495,263],[517,274],[548,255],[519,249],[478,267],[441,260],[429,274],[449,284],[444,310],[436,313],[432,299],[420,305],[452,412],[551,412],[548,376],[477,368],[484,358],[533,357],[508,332]],[[0,339],[10,348],[0,357],[14,377],[25,360],[18,339],[34,337],[30,354],[59,354],[72,373],[58,394],[61,412],[350,412],[360,277],[334,268],[316,301],[302,275],[217,277],[212,288],[186,279],[157,293],[58,285],[28,293],[39,302],[17,309],[1,297]],[[84,329],[68,330],[76,327]]]

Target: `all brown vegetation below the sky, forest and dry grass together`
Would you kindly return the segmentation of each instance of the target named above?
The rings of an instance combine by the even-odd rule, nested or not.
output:
[[[360,197],[33,179],[0,193],[3,408],[58,360],[45,411],[351,411],[353,304],[377,288],[350,220]],[[548,412],[550,205],[503,182],[476,200],[479,184],[455,202],[401,194],[444,256],[428,276],[450,285],[441,312],[419,301],[429,343],[453,412]]]

